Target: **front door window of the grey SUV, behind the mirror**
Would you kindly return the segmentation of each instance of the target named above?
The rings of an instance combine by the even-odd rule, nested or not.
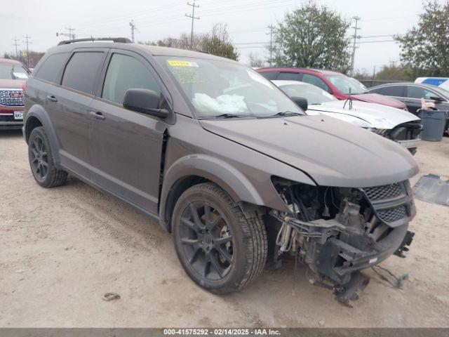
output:
[[[112,55],[107,67],[102,98],[122,104],[125,93],[130,88],[144,88],[161,93],[156,79],[142,62],[128,55]]]

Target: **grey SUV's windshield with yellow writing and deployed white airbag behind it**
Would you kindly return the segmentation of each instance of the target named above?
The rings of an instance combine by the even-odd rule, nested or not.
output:
[[[245,65],[201,58],[161,60],[194,106],[198,118],[304,114],[279,88]]]

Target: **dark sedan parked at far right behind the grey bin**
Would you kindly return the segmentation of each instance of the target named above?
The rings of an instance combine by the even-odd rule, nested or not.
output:
[[[421,108],[421,98],[424,98],[427,102],[435,103],[437,110],[449,111],[449,91],[429,84],[409,82],[390,83],[373,86],[368,91],[401,100],[403,103],[406,103],[408,111],[416,115],[419,114],[417,110]],[[449,113],[444,130],[445,132],[449,131]]]

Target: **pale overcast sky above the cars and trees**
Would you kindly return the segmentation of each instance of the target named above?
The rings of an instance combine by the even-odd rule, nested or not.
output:
[[[5,1],[5,0],[1,0]],[[193,0],[190,0],[191,2]],[[440,0],[444,2],[445,0]],[[195,32],[207,32],[215,22],[227,24],[232,40],[239,47],[241,61],[248,62],[250,52],[267,56],[264,48],[269,42],[270,23],[282,20],[283,15],[300,6],[301,0],[196,0]],[[361,18],[358,32],[363,42],[356,51],[356,68],[373,72],[384,64],[399,60],[399,48],[391,42],[391,34],[403,34],[416,24],[422,12],[422,0],[317,0],[335,9],[344,17]],[[3,6],[4,7],[4,6]],[[30,49],[46,51],[61,40],[56,32],[67,33],[74,27],[81,37],[130,37],[130,20],[139,29],[136,41],[177,37],[190,32],[191,21],[185,13],[192,7],[187,0],[16,0],[11,11],[0,12],[0,53],[15,51],[13,38],[20,39],[19,49],[28,34]],[[353,34],[349,32],[349,34]],[[385,37],[383,37],[386,35]],[[377,37],[380,36],[380,37]],[[254,48],[255,47],[255,48]]]

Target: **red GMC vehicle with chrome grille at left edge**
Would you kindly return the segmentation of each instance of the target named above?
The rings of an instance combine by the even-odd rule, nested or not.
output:
[[[0,130],[23,125],[23,86],[29,70],[22,63],[0,58]]]

